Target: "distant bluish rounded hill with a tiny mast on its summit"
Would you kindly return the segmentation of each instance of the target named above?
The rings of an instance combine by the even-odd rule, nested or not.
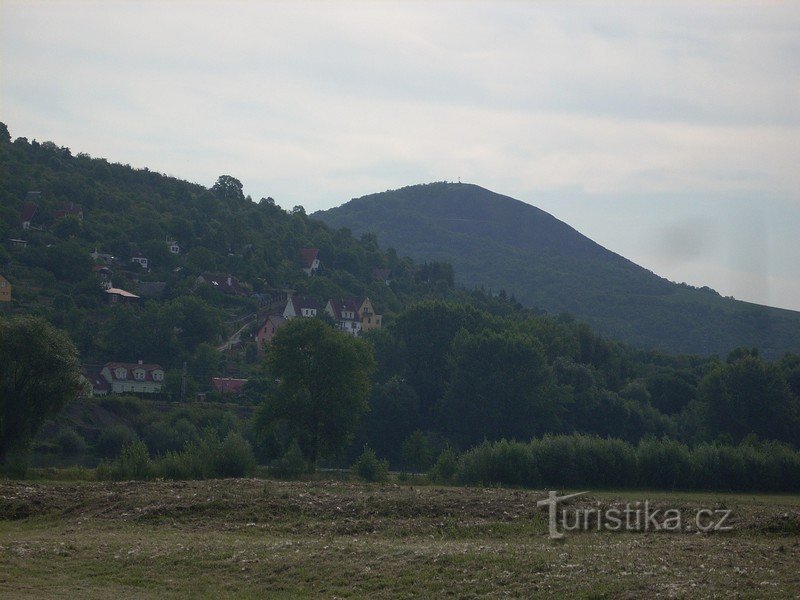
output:
[[[800,350],[800,313],[672,283],[552,215],[476,185],[415,185],[312,217],[374,233],[415,259],[447,261],[461,284],[571,313],[640,347],[724,355],[755,346],[768,357]]]

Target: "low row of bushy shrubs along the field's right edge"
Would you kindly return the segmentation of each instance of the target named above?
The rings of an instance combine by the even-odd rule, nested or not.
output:
[[[501,440],[443,453],[440,481],[534,488],[800,491],[800,452],[774,442],[688,447],[667,438],[638,444],[585,435]]]

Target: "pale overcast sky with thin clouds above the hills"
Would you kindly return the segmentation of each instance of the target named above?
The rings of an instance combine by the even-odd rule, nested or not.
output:
[[[0,0],[0,121],[309,213],[460,179],[800,310],[798,2]]]

